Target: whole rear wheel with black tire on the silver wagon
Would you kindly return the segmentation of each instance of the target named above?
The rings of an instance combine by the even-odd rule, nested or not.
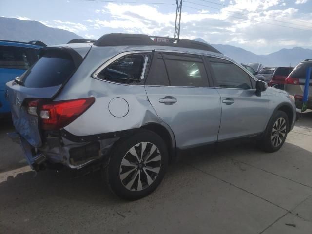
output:
[[[158,187],[167,166],[168,151],[162,138],[142,130],[115,144],[105,168],[106,182],[119,197],[136,200]]]

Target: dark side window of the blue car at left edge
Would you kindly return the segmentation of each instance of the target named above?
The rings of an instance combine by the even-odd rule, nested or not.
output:
[[[26,70],[37,60],[37,49],[0,46],[0,68]]]

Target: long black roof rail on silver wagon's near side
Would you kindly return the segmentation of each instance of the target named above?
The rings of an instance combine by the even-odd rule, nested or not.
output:
[[[96,46],[161,45],[161,46],[173,46],[197,50],[206,50],[221,54],[221,52],[215,49],[213,46],[203,42],[188,39],[149,36],[146,34],[130,34],[130,33],[105,34],[102,37],[100,37],[96,42],[94,42],[94,45]]]

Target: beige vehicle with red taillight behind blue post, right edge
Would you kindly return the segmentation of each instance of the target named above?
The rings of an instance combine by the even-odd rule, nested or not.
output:
[[[302,108],[302,98],[306,81],[306,69],[312,67],[312,59],[300,62],[285,79],[285,91],[295,97],[296,107]],[[312,110],[312,74],[309,82],[308,109]]]

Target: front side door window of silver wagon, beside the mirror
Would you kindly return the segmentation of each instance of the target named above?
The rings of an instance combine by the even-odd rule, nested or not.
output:
[[[208,57],[217,87],[252,89],[251,78],[249,75],[234,63],[219,58]]]

